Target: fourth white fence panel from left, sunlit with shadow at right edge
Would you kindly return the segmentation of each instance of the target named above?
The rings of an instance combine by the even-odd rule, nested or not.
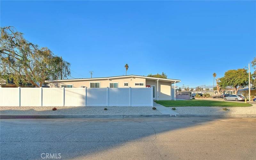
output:
[[[65,88],[65,106],[85,106],[85,88]]]

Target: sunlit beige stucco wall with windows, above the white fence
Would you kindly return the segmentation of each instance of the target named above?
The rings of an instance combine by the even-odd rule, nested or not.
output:
[[[109,80],[81,80],[81,81],[73,81],[70,80],[68,82],[52,82],[48,84],[50,87],[61,87],[61,85],[73,84],[74,88],[80,88],[81,86],[85,86],[90,88],[90,82],[100,82],[100,88],[109,87],[109,83],[117,82],[119,88],[126,88],[124,86],[124,82],[128,82],[128,87],[146,87],[146,79],[145,78],[119,78],[119,79],[109,79]],[[144,83],[143,86],[135,86],[135,83]]]

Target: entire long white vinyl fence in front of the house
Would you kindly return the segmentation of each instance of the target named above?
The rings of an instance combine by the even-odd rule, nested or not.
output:
[[[0,106],[152,106],[152,88],[1,88]]]

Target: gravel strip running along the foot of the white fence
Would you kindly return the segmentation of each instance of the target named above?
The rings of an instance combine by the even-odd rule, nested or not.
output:
[[[152,107],[0,107],[1,115],[161,115]],[[108,108],[108,110],[104,110]]]

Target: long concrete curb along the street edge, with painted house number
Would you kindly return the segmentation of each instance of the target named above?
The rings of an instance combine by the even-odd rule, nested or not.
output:
[[[0,115],[10,118],[168,118],[168,117],[211,117],[211,118],[256,118],[256,115]]]

